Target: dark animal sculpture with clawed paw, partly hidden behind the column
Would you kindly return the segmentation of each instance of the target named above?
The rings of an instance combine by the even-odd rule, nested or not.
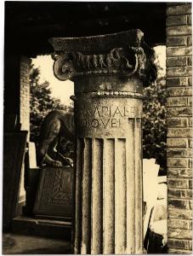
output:
[[[54,110],[43,119],[40,130],[40,140],[37,157],[40,166],[73,166],[73,160],[60,154],[56,149],[60,137],[74,142],[74,113],[64,110]]]

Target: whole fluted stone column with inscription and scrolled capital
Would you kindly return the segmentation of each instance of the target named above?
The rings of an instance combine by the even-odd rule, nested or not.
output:
[[[155,77],[139,30],[51,38],[54,74],[75,83],[74,253],[143,253],[142,90]]]

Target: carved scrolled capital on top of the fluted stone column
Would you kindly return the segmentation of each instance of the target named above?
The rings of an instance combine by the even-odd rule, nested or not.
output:
[[[137,76],[146,85],[156,79],[154,50],[140,30],[82,38],[50,38],[54,76],[60,80],[95,75]]]

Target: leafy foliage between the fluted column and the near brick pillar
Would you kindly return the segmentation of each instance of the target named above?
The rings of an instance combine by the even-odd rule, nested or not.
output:
[[[166,170],[167,124],[166,124],[166,82],[165,77],[156,80],[144,89],[143,115],[143,157],[155,158]]]

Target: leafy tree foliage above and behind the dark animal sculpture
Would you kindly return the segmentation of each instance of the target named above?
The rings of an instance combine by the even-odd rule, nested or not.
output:
[[[40,70],[31,65],[30,74],[30,129],[31,129],[31,142],[37,143],[39,137],[40,126],[43,118],[48,112],[54,109],[65,109],[65,106],[60,103],[59,99],[51,96],[49,83],[45,81],[40,83]]]

